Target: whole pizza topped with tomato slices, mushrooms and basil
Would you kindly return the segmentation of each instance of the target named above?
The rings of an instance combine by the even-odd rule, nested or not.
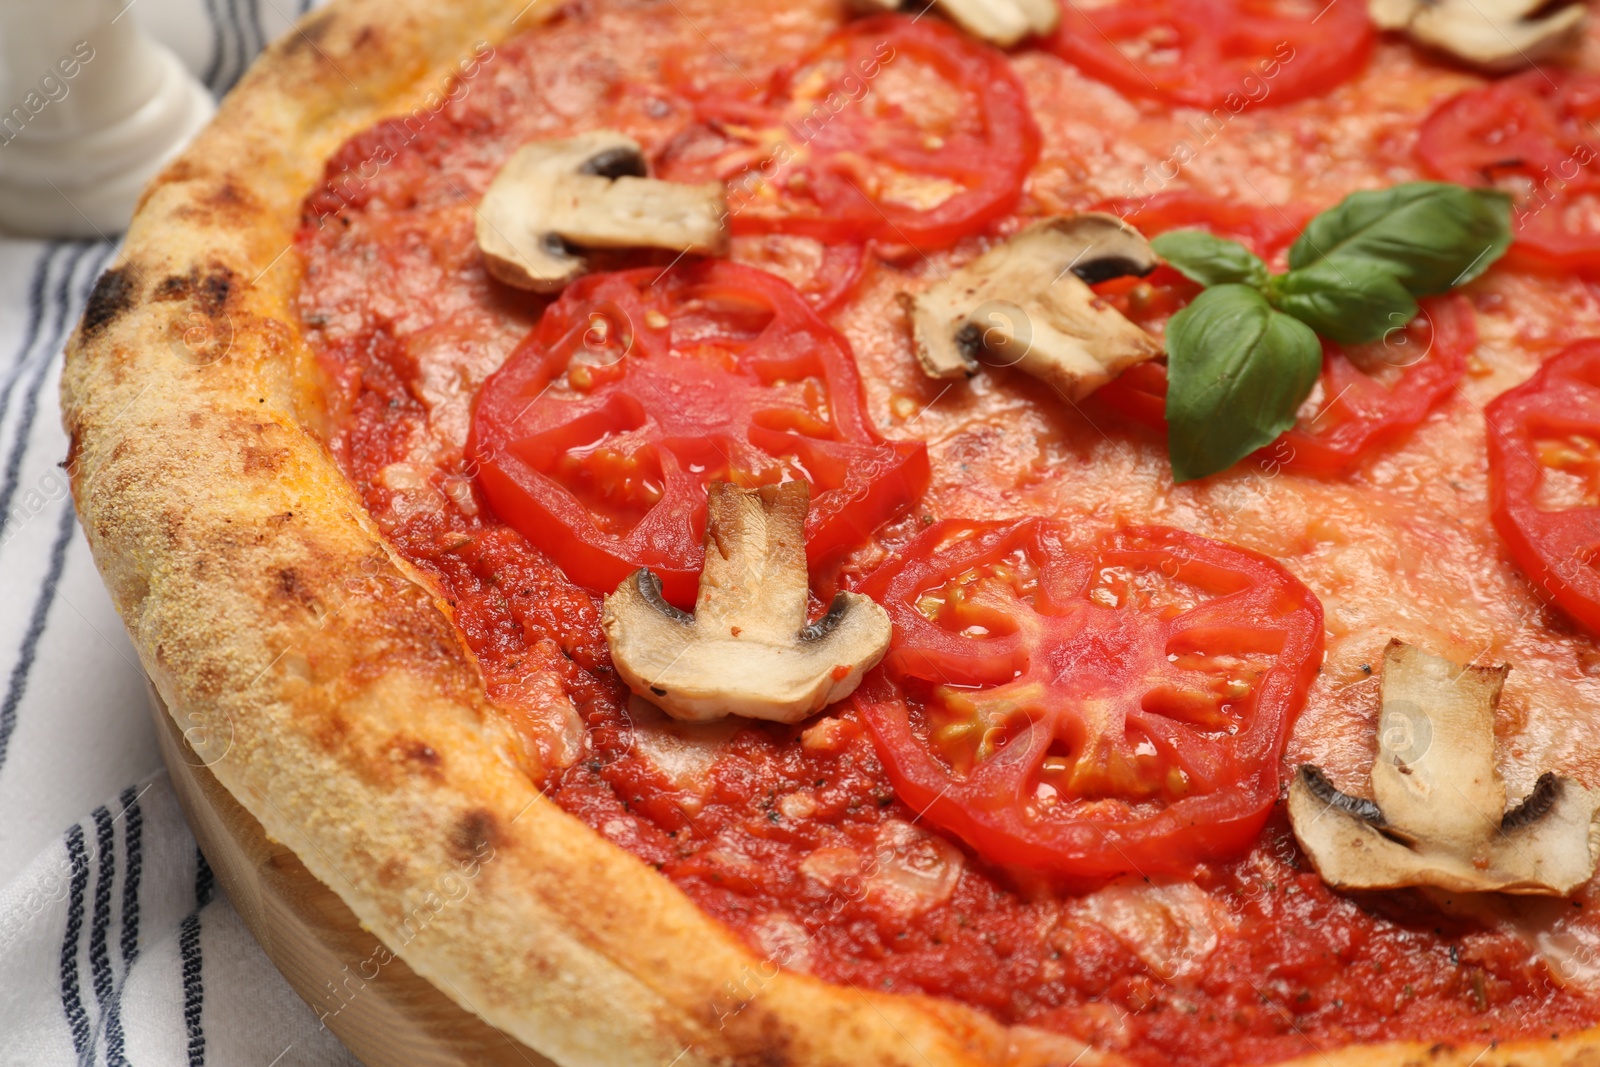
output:
[[[878,8],[267,50],[62,384],[176,725],[560,1064],[1600,1059],[1582,5]]]

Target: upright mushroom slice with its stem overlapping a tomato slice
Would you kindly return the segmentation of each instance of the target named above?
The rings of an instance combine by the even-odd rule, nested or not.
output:
[[[605,598],[602,625],[627,686],[674,718],[798,723],[850,696],[890,643],[890,617],[838,593],[806,624],[810,486],[710,486],[706,569],[694,614],[661,597],[648,569]]]

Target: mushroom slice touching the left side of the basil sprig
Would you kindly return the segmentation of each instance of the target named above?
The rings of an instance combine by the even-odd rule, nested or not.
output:
[[[1082,400],[1162,354],[1162,342],[1098,298],[1090,285],[1146,275],[1149,242],[1114,214],[1035,222],[925,293],[901,294],[930,378],[1016,366]]]

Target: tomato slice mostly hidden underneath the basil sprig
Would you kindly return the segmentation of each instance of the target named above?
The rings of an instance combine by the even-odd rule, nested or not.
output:
[[[1115,210],[1118,205],[1109,205]],[[1269,266],[1283,264],[1288,246],[1309,218],[1302,210],[1250,208],[1213,202],[1194,194],[1154,198],[1128,221],[1149,235],[1170,229],[1203,229],[1240,242]],[[1168,267],[1144,280],[1138,307],[1131,296],[1138,283],[1120,283],[1117,299],[1128,306],[1139,325],[1163,322],[1181,309],[1200,286]],[[1422,312],[1405,328],[1392,330],[1371,346],[1344,349],[1323,341],[1320,395],[1323,403],[1310,418],[1256,453],[1256,461],[1274,470],[1294,470],[1338,477],[1384,448],[1403,440],[1461,382],[1467,355],[1477,347],[1477,318],[1462,296],[1429,298]],[[1354,358],[1352,358],[1354,357]],[[1394,381],[1381,382],[1368,370]],[[1130,368],[1098,394],[1099,402],[1166,435],[1166,368],[1141,363]]]

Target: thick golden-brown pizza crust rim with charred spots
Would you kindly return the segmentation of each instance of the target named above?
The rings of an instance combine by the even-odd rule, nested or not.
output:
[[[146,194],[62,379],[78,514],[146,670],[218,779],[365,926],[562,1064],[1114,1059],[758,960],[541,798],[446,609],[317,438],[290,310],[302,198],[346,138],[550,6],[341,0],[269,48]],[[1600,1067],[1600,1030],[1306,1062]]]

